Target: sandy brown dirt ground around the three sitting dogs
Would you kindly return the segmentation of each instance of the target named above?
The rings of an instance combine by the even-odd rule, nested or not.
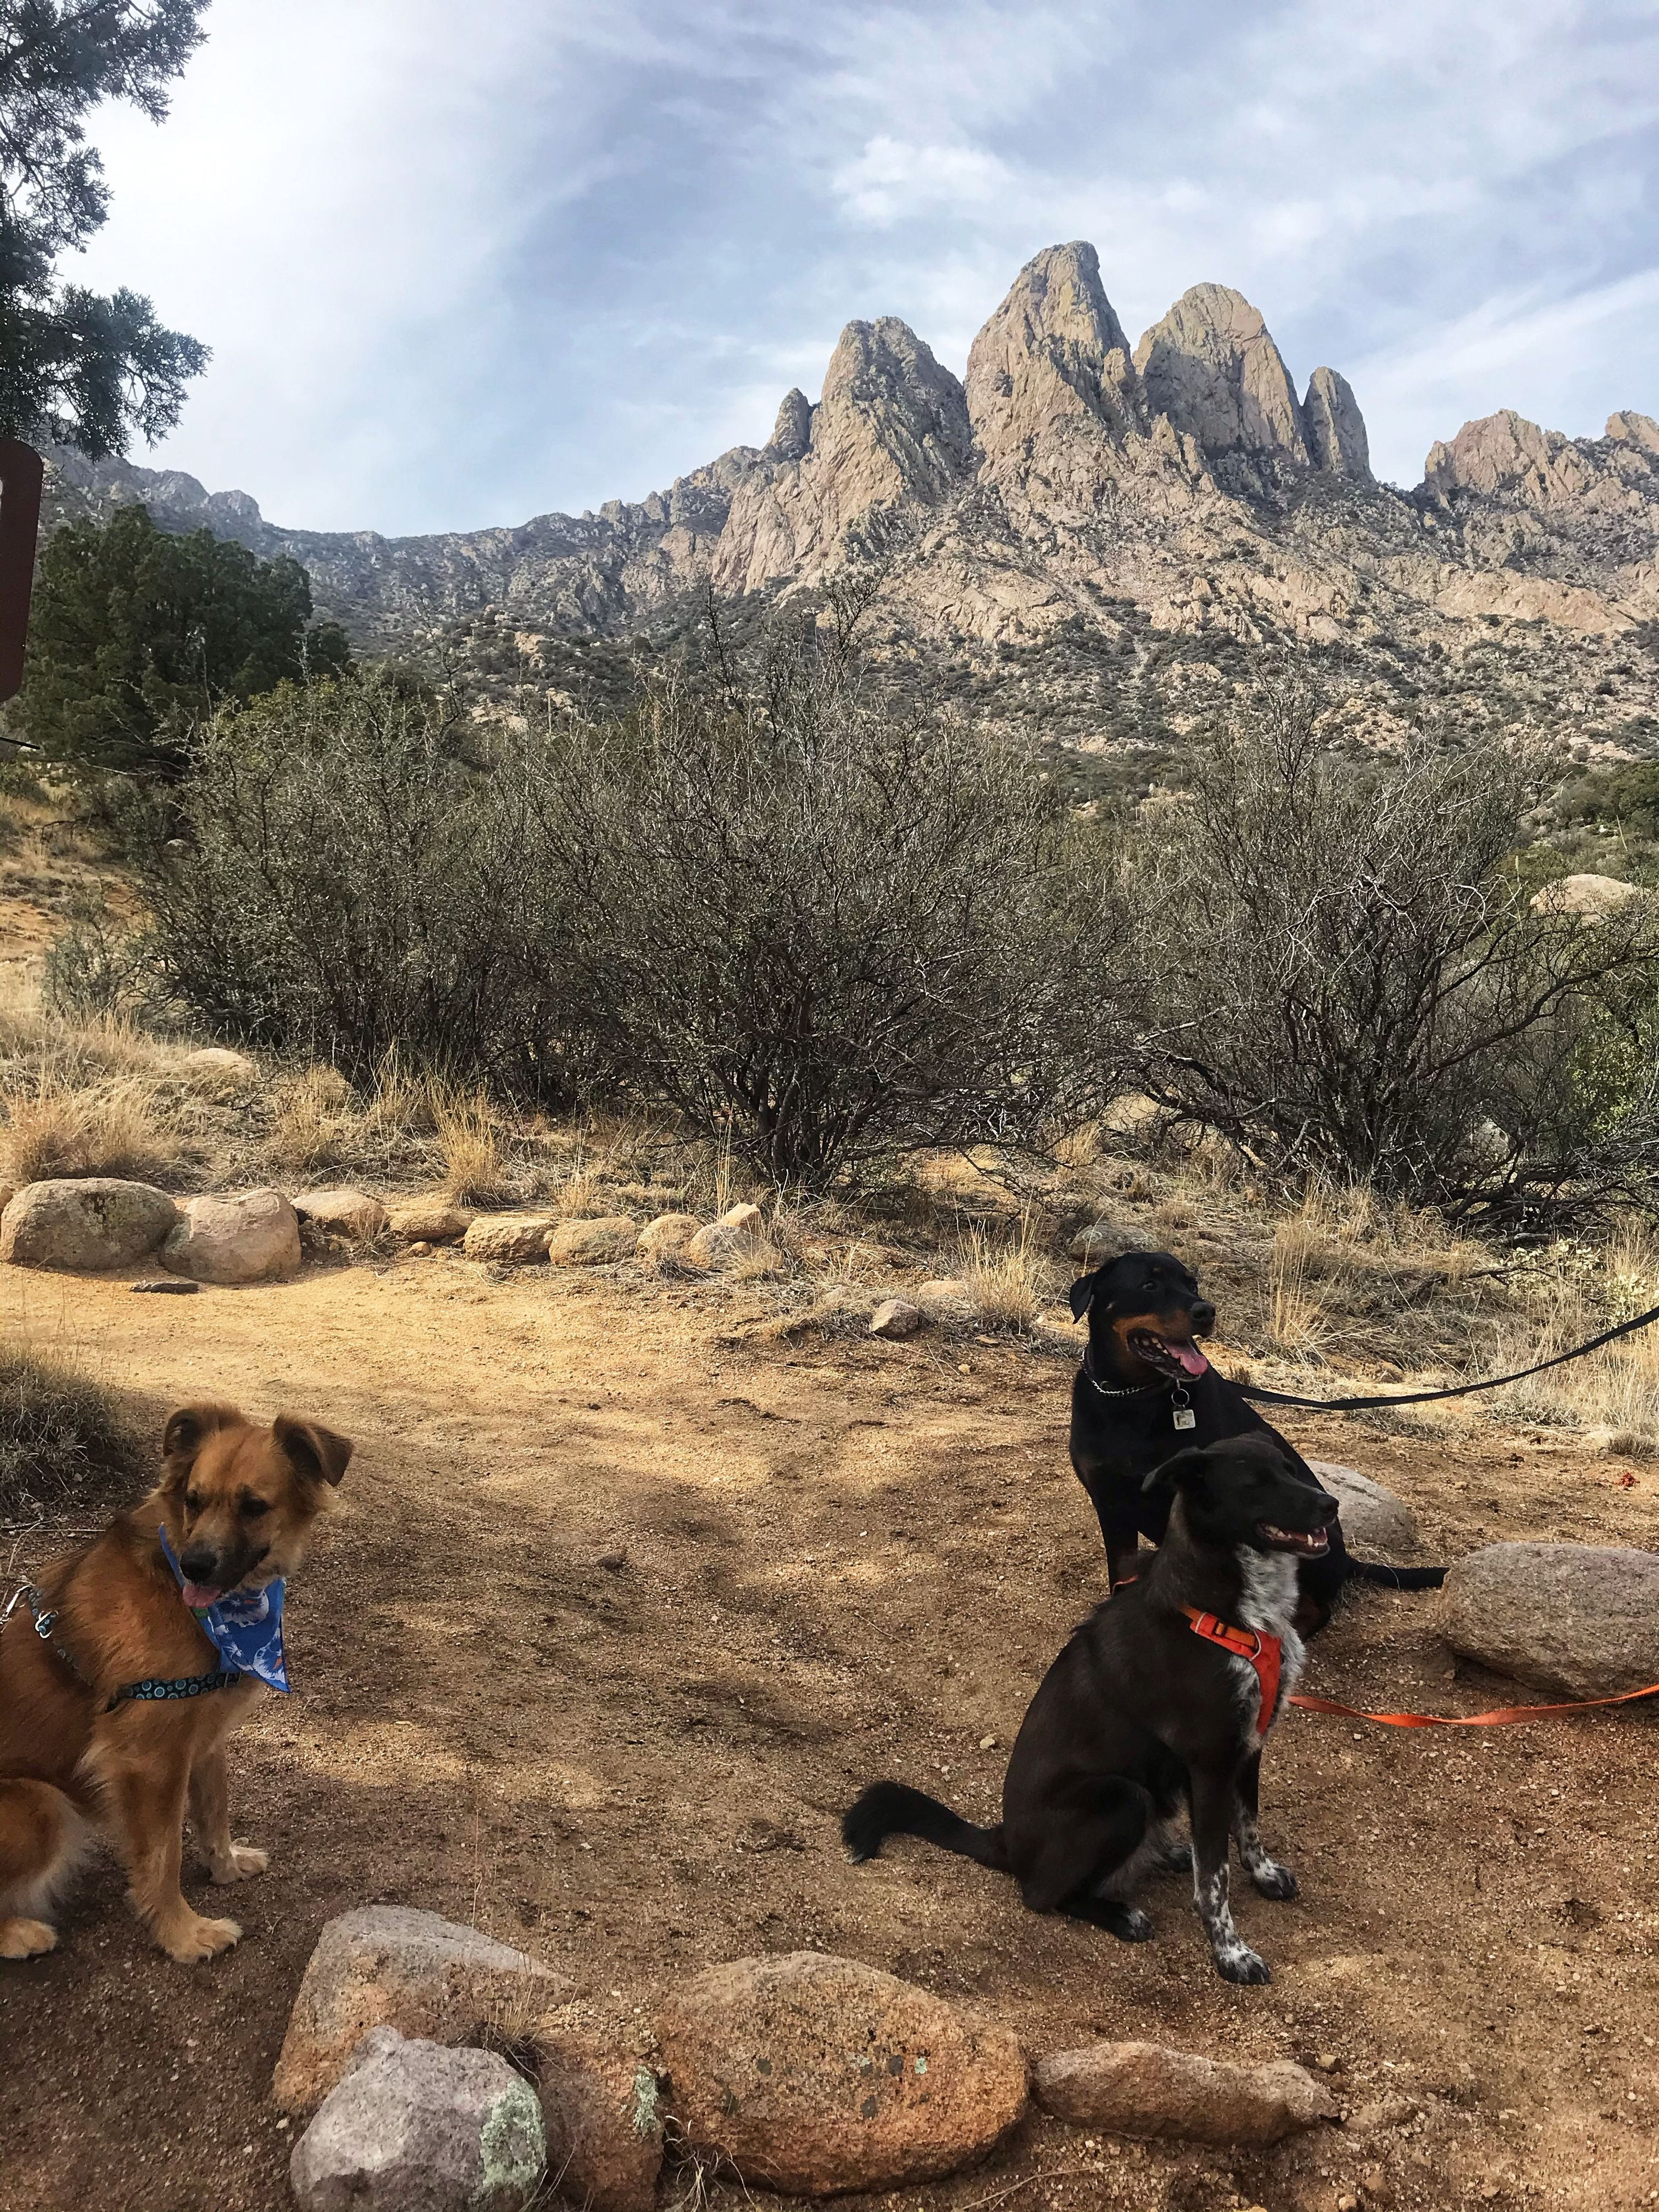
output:
[[[166,1405],[223,1396],[358,1440],[290,1601],[296,1694],[232,1743],[237,1834],[274,1851],[234,1893],[243,1942],[170,1964],[95,1867],[64,1947],[0,1969],[4,2212],[285,2205],[272,2059],[319,1927],[369,1900],[522,1944],[641,2051],[699,1966],[823,1947],[980,2004],[1033,2051],[1144,2035],[1336,2062],[1349,2124],[1276,2152],[1035,2119],[991,2168],[887,2205],[1659,2201],[1659,1712],[1444,1734],[1294,1714],[1265,1829],[1303,1896],[1245,1889],[1239,1911],[1263,1991],[1210,1971],[1175,1880],[1148,1898],[1159,1940],[1121,1947],[920,1845],[849,1867],[836,1816],[874,1776],[991,1814],[1002,1750],[980,1739],[1011,1741],[1102,1590],[1068,1367],[942,1336],[737,1349],[730,1314],[721,1290],[491,1283],[453,1256],[195,1298],[4,1270],[0,1325],[144,1391],[157,1431]],[[1659,1546],[1650,1469],[1500,1429],[1287,1427],[1402,1491],[1429,1555]],[[1305,1688],[1513,1701],[1451,1666],[1431,1617],[1358,1595]]]

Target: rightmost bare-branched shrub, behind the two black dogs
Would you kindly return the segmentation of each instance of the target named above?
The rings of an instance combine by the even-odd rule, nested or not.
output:
[[[1535,914],[1506,867],[1526,759],[1484,739],[1338,754],[1327,703],[1305,672],[1263,677],[1148,825],[1146,1088],[1279,1172],[1453,1212],[1593,1188],[1646,1144],[1635,1088],[1608,1108],[1582,1079],[1652,975],[1646,907]]]

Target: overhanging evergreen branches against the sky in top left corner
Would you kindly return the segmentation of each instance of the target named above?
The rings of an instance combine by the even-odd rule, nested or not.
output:
[[[206,367],[206,345],[164,330],[148,299],[58,276],[108,212],[86,115],[131,100],[159,122],[204,4],[0,0],[0,436],[124,453],[173,429]]]

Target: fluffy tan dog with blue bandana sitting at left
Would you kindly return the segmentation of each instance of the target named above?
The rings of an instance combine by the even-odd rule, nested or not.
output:
[[[230,1840],[226,1739],[263,1683],[241,1674],[206,1694],[126,1694],[221,1668],[190,1604],[290,1575],[352,1444],[279,1413],[257,1429],[228,1405],[168,1416],[164,1473],[97,1542],[55,1562],[33,1593],[49,1635],[18,1606],[0,1632],[0,1958],[51,1951],[42,1913],[102,1832],[133,1907],[181,1964],[232,1944],[234,1920],[204,1920],[179,1891],[186,1807],[215,1882],[265,1871]],[[186,1588],[161,1551],[173,1546]]]

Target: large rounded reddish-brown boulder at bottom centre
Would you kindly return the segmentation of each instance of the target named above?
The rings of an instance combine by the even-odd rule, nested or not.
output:
[[[933,2181],[987,2157],[1026,2110],[1009,2028],[849,1958],[712,1966],[659,2028],[692,2152],[763,2188],[834,2197]]]

